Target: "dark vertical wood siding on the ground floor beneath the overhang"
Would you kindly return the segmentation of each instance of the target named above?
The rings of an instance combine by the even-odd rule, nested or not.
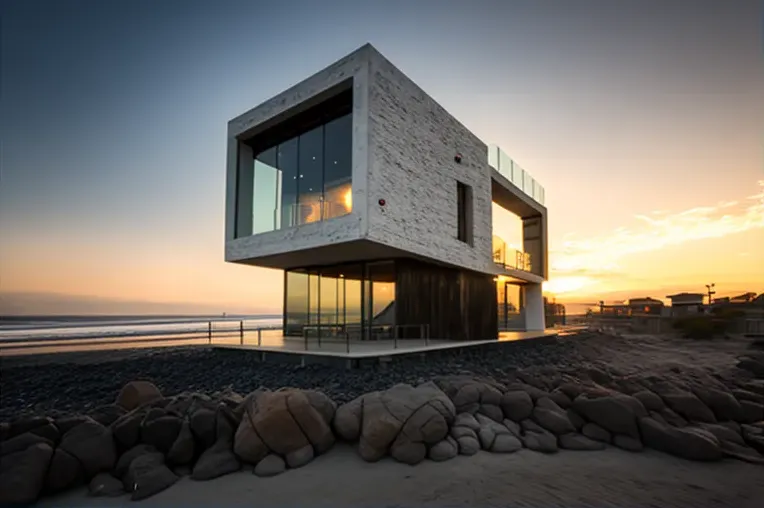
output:
[[[434,339],[497,336],[496,283],[490,275],[399,259],[395,293],[400,325],[427,324]],[[418,329],[401,331],[402,337],[418,334]]]

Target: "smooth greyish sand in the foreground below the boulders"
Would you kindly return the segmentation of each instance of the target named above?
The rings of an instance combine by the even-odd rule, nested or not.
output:
[[[39,506],[127,506],[127,496],[88,497],[85,489]],[[273,478],[250,471],[209,482],[182,478],[141,506],[764,506],[764,468],[726,460],[698,463],[654,451],[479,452],[406,466],[366,463],[340,445],[301,469]]]

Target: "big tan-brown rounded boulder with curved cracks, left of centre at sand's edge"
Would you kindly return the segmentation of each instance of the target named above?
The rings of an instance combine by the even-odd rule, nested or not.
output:
[[[234,452],[252,464],[275,453],[291,467],[302,465],[334,445],[330,427],[333,411],[331,399],[320,392],[296,389],[253,392],[245,401],[244,414],[236,429]]]

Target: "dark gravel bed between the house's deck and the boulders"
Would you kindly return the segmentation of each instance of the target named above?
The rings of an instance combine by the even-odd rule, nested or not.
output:
[[[331,365],[258,363],[247,352],[206,348],[161,349],[101,362],[35,364],[31,357],[4,359],[0,364],[0,420],[22,414],[87,412],[113,403],[120,388],[135,379],[152,381],[165,395],[225,389],[246,395],[260,386],[292,386],[322,390],[337,402],[440,375],[475,374],[501,381],[521,368],[569,367],[583,361],[577,338],[523,341],[494,350],[469,348],[426,360],[407,357],[384,367],[350,370]]]

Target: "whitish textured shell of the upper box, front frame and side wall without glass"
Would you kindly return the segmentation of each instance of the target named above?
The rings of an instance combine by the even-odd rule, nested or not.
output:
[[[353,212],[330,221],[233,238],[242,133],[353,77]],[[226,260],[241,261],[367,239],[438,262],[493,273],[487,147],[365,45],[229,123]],[[454,161],[462,155],[461,164]],[[472,244],[457,239],[457,182],[472,188]],[[379,200],[385,200],[385,206]],[[380,252],[383,252],[380,249]]]

